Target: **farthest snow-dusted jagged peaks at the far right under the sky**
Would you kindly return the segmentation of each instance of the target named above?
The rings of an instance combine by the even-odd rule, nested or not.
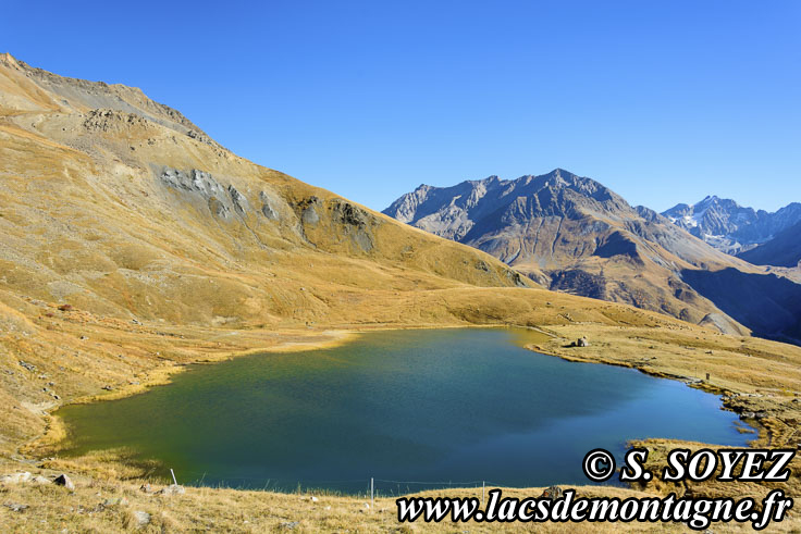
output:
[[[711,196],[691,206],[676,204],[662,214],[718,250],[738,254],[801,222],[801,203],[792,202],[771,213]]]

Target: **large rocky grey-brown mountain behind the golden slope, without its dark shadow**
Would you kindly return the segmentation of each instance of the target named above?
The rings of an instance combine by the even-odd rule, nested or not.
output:
[[[552,289],[691,322],[719,310],[681,285],[679,271],[745,266],[655,211],[632,208],[602,184],[562,169],[421,185],[384,213],[479,248]]]

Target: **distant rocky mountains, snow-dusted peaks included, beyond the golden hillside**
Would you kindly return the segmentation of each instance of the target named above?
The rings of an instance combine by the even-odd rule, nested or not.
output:
[[[489,252],[551,289],[729,333],[744,332],[744,325],[764,336],[801,337],[801,285],[685,232],[762,243],[797,210],[801,219],[801,204],[774,214],[716,197],[682,206],[668,210],[668,219],[556,169],[512,181],[490,176],[452,187],[421,185],[383,213]]]

